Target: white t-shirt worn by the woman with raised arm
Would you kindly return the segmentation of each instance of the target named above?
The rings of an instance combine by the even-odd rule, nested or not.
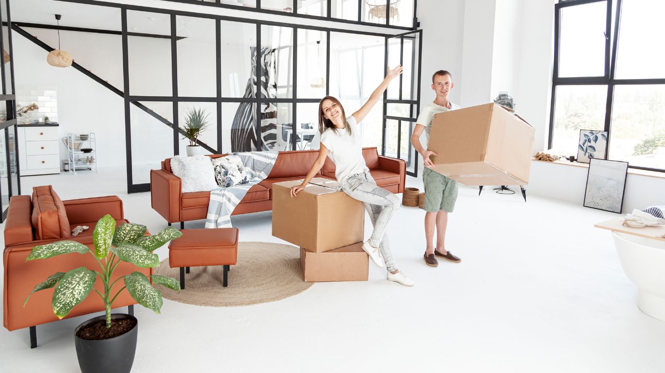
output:
[[[337,131],[329,128],[321,134],[321,143],[328,148],[328,155],[335,165],[334,176],[339,183],[349,175],[363,173],[367,169],[362,157],[360,125],[353,115],[346,118],[346,125],[351,127],[352,135],[348,134],[346,128],[338,128]]]

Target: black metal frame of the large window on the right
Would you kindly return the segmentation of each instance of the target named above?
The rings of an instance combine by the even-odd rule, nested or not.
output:
[[[561,10],[567,7],[585,5],[590,3],[602,3],[606,1],[606,23],[605,23],[605,66],[603,76],[587,77],[559,77],[559,53],[561,51]],[[612,141],[612,104],[614,103],[614,87],[622,85],[636,84],[665,84],[664,78],[654,79],[616,79],[616,56],[619,30],[621,26],[621,7],[623,0],[559,0],[554,9],[554,66],[552,75],[552,96],[550,104],[549,118],[549,137],[547,147],[551,149],[554,137],[554,119],[556,110],[556,92],[557,86],[607,86],[607,99],[605,105],[604,129],[607,132],[607,146],[605,147],[605,159],[608,158],[610,144]],[[614,19],[612,19],[612,9],[616,4]],[[614,31],[612,32],[612,21],[614,21]],[[656,169],[652,167],[641,167],[628,165],[631,169],[640,169],[647,171],[665,172],[665,169]]]

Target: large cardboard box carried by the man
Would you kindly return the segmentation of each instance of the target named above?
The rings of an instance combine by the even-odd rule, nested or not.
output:
[[[527,185],[535,129],[513,110],[485,104],[434,115],[434,171],[464,185]]]

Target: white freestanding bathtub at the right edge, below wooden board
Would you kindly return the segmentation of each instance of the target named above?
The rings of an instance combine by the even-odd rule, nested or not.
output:
[[[612,232],[626,275],[639,289],[637,306],[665,321],[665,242]]]

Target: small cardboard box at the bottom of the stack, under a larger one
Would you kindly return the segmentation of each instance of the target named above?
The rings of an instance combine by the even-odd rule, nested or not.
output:
[[[323,253],[300,248],[300,263],[305,282],[367,281],[369,256],[362,242]]]

